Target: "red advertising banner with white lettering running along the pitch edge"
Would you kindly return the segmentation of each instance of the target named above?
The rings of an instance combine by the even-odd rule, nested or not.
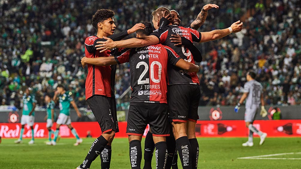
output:
[[[101,134],[100,127],[97,122],[72,122],[79,137],[86,137],[89,131],[92,137],[98,137]],[[119,132],[115,137],[127,137],[127,122],[118,122]],[[268,133],[268,137],[301,137],[301,120],[256,120],[253,125],[259,130]],[[56,123],[52,129],[55,130]],[[37,138],[48,137],[48,130],[45,122],[35,123],[34,136]],[[144,131],[146,135],[149,127]],[[2,138],[17,138],[21,130],[20,123],[0,123],[0,136]],[[197,121],[196,135],[197,137],[246,137],[248,128],[245,126],[244,120],[217,120],[217,121]],[[61,137],[73,137],[70,129],[66,125],[61,125]],[[31,137],[31,130],[25,125],[23,137]]]

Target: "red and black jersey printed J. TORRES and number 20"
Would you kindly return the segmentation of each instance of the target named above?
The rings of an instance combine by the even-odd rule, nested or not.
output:
[[[174,50],[161,44],[128,48],[115,59],[130,64],[131,102],[167,103],[167,64],[181,59]]]

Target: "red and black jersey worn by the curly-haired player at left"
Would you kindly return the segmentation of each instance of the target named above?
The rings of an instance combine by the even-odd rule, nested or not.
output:
[[[119,41],[128,35],[127,30],[115,35],[111,35],[113,41]],[[113,53],[117,53],[119,49],[106,50],[103,53],[96,51],[95,45],[97,41],[106,41],[104,38],[98,38],[97,36],[89,36],[85,40],[85,56],[88,58],[96,57],[108,57]],[[111,66],[96,66],[87,65],[88,75],[86,78],[86,99],[93,95],[105,95],[107,97],[115,97],[115,74],[116,65]]]

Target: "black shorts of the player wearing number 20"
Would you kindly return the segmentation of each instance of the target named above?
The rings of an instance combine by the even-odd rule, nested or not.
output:
[[[150,125],[153,136],[169,136],[166,103],[131,103],[129,107],[127,135],[142,136]]]

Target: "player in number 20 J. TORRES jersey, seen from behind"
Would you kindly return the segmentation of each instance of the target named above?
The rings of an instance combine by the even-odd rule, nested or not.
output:
[[[152,33],[151,23],[143,22],[144,30],[137,37]],[[188,45],[193,45],[188,41]],[[170,47],[161,44],[124,49],[119,56],[106,58],[82,58],[82,65],[113,65],[129,62],[131,74],[131,104],[126,134],[129,135],[130,161],[132,168],[141,165],[141,139],[147,124],[153,132],[156,146],[157,168],[164,168],[167,158],[165,136],[169,136],[167,118],[167,65],[175,65],[184,71],[197,72],[198,66],[185,62]]]

